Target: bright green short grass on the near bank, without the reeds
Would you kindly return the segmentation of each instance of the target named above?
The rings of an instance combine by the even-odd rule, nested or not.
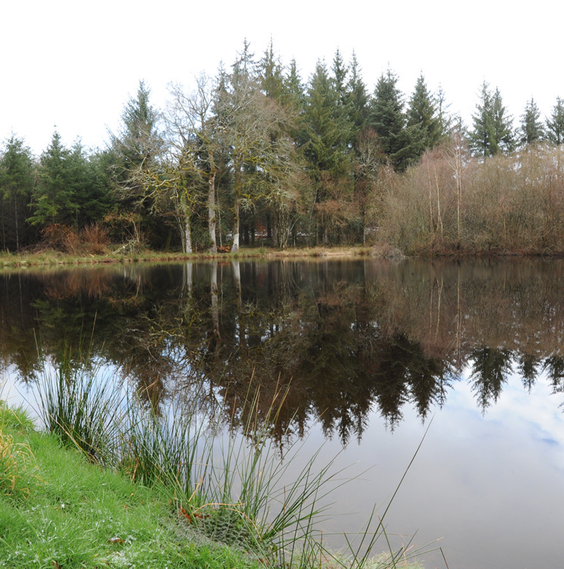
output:
[[[196,545],[163,486],[89,464],[22,410],[3,407],[0,429],[2,567],[262,566],[235,547]]]

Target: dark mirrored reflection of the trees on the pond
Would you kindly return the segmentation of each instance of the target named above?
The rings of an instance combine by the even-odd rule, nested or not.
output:
[[[275,436],[320,418],[343,444],[376,410],[442,407],[462,370],[485,413],[511,373],[564,390],[560,261],[375,259],[211,262],[0,274],[2,365],[21,381],[79,344],[154,402],[202,374],[237,413],[249,382],[265,405],[290,385]],[[555,400],[558,406],[560,401]]]

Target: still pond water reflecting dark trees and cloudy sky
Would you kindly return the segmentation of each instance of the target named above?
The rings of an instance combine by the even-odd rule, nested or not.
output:
[[[90,345],[162,407],[201,373],[235,406],[250,378],[266,396],[289,385],[281,451],[308,433],[305,456],[322,446],[346,476],[369,468],[331,497],[334,547],[374,504],[383,512],[428,429],[387,530],[442,538],[451,569],[557,568],[563,277],[563,262],[538,259],[5,271],[0,365],[16,401],[40,377],[38,343],[55,361]],[[445,567],[438,553],[423,561]]]

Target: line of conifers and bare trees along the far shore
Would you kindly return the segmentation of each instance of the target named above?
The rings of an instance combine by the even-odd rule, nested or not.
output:
[[[194,90],[171,84],[165,109],[140,81],[104,149],[6,140],[0,246],[563,252],[564,101],[543,121],[531,98],[515,126],[484,82],[467,127],[423,75],[407,96],[397,83],[389,69],[370,92],[339,50],[304,81],[246,42]]]

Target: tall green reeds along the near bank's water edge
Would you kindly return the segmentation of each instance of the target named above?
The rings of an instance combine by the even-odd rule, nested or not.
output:
[[[302,443],[294,443],[282,459],[269,436],[285,393],[275,393],[264,417],[260,391],[249,392],[240,415],[245,422],[235,424],[223,403],[209,402],[203,393],[190,399],[175,394],[163,412],[142,393],[128,395],[97,377],[95,368],[72,370],[69,362],[64,352],[57,373],[46,374],[40,386],[46,428],[90,460],[112,465],[143,486],[168,489],[173,515],[190,526],[190,535],[243,547],[281,567],[319,567],[323,559],[326,567],[384,569],[419,553],[409,545],[388,547],[387,560],[374,561],[378,539],[389,546],[388,509],[381,518],[373,514],[355,539],[347,538],[348,555],[326,549],[318,529],[327,516],[322,504],[345,482],[336,480],[334,461],[319,464],[319,451],[289,476]]]

